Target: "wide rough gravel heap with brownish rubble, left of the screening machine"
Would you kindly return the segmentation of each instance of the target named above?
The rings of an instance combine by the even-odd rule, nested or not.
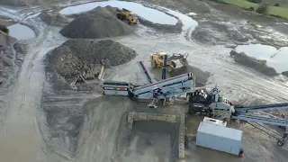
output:
[[[105,60],[117,66],[136,57],[136,51],[112,40],[67,40],[51,51],[49,64],[65,78],[79,74],[85,66]]]

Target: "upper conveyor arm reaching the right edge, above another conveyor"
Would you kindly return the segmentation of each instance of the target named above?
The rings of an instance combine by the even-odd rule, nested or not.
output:
[[[247,105],[247,106],[235,106],[236,112],[259,112],[259,111],[273,111],[273,110],[288,110],[288,103],[275,103],[264,105]]]

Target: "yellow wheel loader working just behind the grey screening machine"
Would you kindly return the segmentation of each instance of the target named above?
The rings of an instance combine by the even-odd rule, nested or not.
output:
[[[167,72],[172,72],[176,67],[176,63],[173,60],[179,59],[180,63],[186,67],[188,66],[187,57],[188,53],[183,54],[173,54],[172,56],[168,56],[166,52],[156,52],[150,54],[149,62],[151,62],[151,67],[159,68],[163,66],[163,58],[166,56],[166,70]]]

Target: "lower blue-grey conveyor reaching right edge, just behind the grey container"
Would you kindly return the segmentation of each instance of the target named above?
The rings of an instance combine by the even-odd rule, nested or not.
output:
[[[242,120],[242,121],[254,121],[254,122],[262,122],[271,125],[279,125],[279,126],[288,126],[288,120],[282,119],[272,119],[260,116],[252,116],[245,114],[232,115],[233,119]]]

